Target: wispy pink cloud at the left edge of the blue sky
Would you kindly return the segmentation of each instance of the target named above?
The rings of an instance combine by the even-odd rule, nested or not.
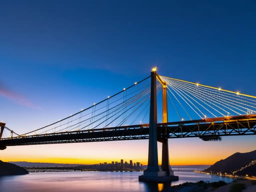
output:
[[[34,105],[32,102],[26,99],[23,95],[20,95],[13,91],[8,90],[6,86],[3,85],[2,82],[0,82],[0,97],[4,97],[6,99],[12,100],[13,102],[18,103],[19,105],[24,105],[26,107],[33,108],[33,109],[39,109],[38,106]]]

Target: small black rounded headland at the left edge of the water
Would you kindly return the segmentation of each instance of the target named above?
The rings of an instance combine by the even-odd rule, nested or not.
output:
[[[25,175],[28,171],[12,163],[0,161],[0,177],[7,175]]]

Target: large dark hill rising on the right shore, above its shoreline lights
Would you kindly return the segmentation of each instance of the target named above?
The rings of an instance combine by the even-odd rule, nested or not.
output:
[[[232,173],[256,159],[256,150],[248,153],[235,153],[226,159],[222,159],[209,168],[207,172]],[[250,169],[250,168],[249,168]]]

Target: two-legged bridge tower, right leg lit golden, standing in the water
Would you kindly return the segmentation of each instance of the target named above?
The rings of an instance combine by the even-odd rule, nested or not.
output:
[[[162,141],[162,166],[158,165],[157,154],[157,102],[156,102],[156,79],[163,85],[163,123],[168,122],[166,83],[156,73],[156,68],[151,72],[151,97],[150,97],[150,119],[149,119],[149,142],[148,142],[148,165],[139,181],[144,182],[170,182],[178,180],[173,175],[169,165],[168,137],[167,134]]]

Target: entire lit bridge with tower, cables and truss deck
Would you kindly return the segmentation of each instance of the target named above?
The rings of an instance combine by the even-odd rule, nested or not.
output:
[[[0,150],[18,145],[149,139],[148,168],[139,180],[177,180],[169,165],[168,139],[221,141],[222,136],[255,135],[256,97],[160,76],[153,68],[145,79],[52,124],[22,134],[3,122],[0,127]],[[162,143],[160,167],[157,141]]]

